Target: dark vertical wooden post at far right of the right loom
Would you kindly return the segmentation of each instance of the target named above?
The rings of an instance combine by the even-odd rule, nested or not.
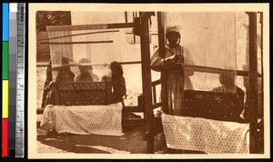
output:
[[[258,113],[258,64],[257,64],[257,13],[249,16],[249,122],[250,153],[257,153],[257,113]]]

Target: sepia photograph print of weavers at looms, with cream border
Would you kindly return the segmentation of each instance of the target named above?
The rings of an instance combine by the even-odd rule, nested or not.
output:
[[[29,4],[29,158],[269,157],[268,4]]]

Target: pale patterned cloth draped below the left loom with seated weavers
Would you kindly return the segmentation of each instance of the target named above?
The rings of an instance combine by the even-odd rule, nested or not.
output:
[[[40,127],[58,133],[122,136],[122,104],[45,107]]]

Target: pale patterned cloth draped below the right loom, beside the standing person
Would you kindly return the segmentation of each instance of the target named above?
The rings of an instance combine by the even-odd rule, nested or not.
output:
[[[206,153],[248,153],[249,125],[200,117],[162,115],[167,147]]]

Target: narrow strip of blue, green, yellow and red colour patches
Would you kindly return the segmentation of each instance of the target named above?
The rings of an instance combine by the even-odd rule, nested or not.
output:
[[[2,157],[8,157],[9,4],[3,4]]]

